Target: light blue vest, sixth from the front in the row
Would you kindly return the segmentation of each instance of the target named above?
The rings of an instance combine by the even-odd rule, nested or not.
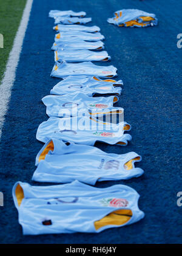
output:
[[[65,60],[56,61],[51,77],[64,78],[69,75],[87,75],[101,78],[115,77],[117,69],[114,66],[96,66],[92,62],[67,63]]]

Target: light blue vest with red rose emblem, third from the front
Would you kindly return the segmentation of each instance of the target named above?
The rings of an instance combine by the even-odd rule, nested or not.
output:
[[[36,139],[47,142],[50,139],[61,139],[93,146],[96,141],[105,142],[110,145],[127,145],[127,141],[132,139],[129,131],[131,126],[126,122],[109,123],[103,122],[95,117],[71,117],[58,118],[49,117],[46,122],[42,122],[38,127]]]

